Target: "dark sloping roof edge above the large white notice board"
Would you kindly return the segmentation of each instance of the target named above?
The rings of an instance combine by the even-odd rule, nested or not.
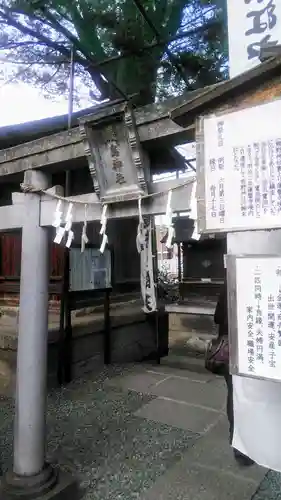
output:
[[[281,57],[271,57],[235,78],[225,80],[211,88],[206,87],[200,94],[191,96],[188,102],[175,106],[169,116],[177,125],[187,127],[194,123],[196,116],[209,112],[226,100],[254,90],[258,85],[278,76],[281,76]]]

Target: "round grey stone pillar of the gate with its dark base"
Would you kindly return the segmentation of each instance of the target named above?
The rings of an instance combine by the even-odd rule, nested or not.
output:
[[[25,172],[40,189],[48,177]],[[48,230],[40,227],[40,196],[22,195],[24,211],[14,424],[14,462],[2,483],[2,499],[62,498],[73,481],[45,462],[48,348]],[[62,484],[63,483],[63,484]],[[68,494],[74,498],[73,491]]]

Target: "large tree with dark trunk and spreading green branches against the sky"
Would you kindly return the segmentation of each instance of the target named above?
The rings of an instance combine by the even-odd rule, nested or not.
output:
[[[136,94],[139,105],[225,77],[226,0],[142,0],[142,6],[157,34],[134,0],[2,0],[5,57],[21,63],[19,79],[63,92],[73,46],[77,98],[83,87],[89,98],[98,89],[114,99],[117,86],[122,95]]]

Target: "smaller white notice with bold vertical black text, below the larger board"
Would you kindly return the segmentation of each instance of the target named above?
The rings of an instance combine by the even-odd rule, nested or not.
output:
[[[235,261],[238,374],[281,381],[281,256]]]

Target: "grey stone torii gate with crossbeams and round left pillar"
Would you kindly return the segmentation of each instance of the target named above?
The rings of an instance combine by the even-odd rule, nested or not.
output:
[[[12,205],[0,208],[0,231],[22,229],[14,462],[13,471],[2,481],[1,499],[74,499],[77,493],[73,478],[45,463],[48,228],[56,195],[63,195],[62,187],[51,185],[49,171],[87,158],[95,192],[67,199],[76,203],[74,224],[84,221],[85,204],[90,207],[88,222],[101,219],[104,204],[110,219],[137,217],[139,197],[144,197],[143,215],[164,214],[170,189],[175,189],[173,211],[187,211],[194,178],[189,183],[165,183],[162,192],[163,185],[151,182],[142,143],[163,137],[175,142],[176,135],[179,142],[188,142],[192,133],[193,127],[178,127],[159,106],[148,118],[144,111],[135,113],[119,105],[83,117],[69,132],[0,151],[1,181],[24,172],[25,187],[24,193],[12,194]]]

